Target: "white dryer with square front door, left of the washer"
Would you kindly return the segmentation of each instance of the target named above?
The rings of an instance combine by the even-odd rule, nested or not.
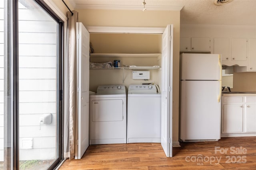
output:
[[[100,85],[90,95],[90,145],[126,143],[127,112],[124,85]]]

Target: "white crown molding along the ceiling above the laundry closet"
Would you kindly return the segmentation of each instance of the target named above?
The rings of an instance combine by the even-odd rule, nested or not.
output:
[[[180,11],[184,6],[146,6],[147,10],[160,11]],[[93,9],[93,10],[142,10],[143,6],[129,6],[129,5],[86,5],[76,4],[76,9]]]

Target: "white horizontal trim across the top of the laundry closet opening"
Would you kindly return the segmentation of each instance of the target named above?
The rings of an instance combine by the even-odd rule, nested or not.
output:
[[[147,33],[162,34],[165,27],[101,27],[86,26],[89,33]]]

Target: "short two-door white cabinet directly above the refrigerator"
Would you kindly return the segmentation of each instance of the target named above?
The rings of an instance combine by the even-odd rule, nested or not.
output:
[[[180,51],[210,51],[210,38],[180,37]]]

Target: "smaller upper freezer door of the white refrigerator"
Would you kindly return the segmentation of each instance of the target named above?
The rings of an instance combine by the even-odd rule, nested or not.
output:
[[[181,54],[181,80],[221,80],[218,54]]]

